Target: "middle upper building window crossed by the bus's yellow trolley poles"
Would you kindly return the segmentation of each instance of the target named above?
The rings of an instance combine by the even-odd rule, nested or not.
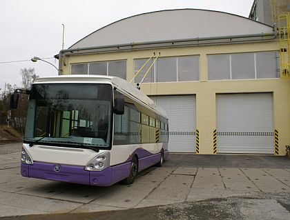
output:
[[[148,59],[135,59],[135,74],[142,68]],[[144,68],[135,77],[135,83],[140,83],[153,59],[148,61]],[[200,56],[162,57],[158,59],[143,80],[143,83],[172,82],[172,81],[199,81]]]

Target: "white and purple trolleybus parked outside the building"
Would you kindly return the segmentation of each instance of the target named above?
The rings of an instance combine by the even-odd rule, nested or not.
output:
[[[36,79],[29,94],[21,151],[23,177],[110,186],[168,157],[164,110],[118,77]]]

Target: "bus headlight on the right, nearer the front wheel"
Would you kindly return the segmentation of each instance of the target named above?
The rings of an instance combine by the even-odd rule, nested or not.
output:
[[[94,159],[90,160],[87,165],[85,170],[87,171],[101,171],[110,166],[110,152],[104,152]]]

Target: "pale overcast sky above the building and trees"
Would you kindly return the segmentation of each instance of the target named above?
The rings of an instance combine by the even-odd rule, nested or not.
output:
[[[59,53],[62,23],[66,49],[91,32],[135,14],[197,8],[248,17],[252,3],[253,0],[0,0],[1,92],[4,83],[21,86],[21,68],[35,68],[40,77],[57,75],[49,64],[32,63],[30,59]],[[46,61],[58,66],[55,59]]]

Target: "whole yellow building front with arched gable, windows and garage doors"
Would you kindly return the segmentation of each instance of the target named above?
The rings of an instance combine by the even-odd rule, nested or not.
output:
[[[143,80],[141,90],[166,110],[171,152],[284,155],[290,81],[280,77],[279,50],[264,23],[164,10],[116,21],[61,50],[59,70],[131,81],[148,61],[132,83]]]

